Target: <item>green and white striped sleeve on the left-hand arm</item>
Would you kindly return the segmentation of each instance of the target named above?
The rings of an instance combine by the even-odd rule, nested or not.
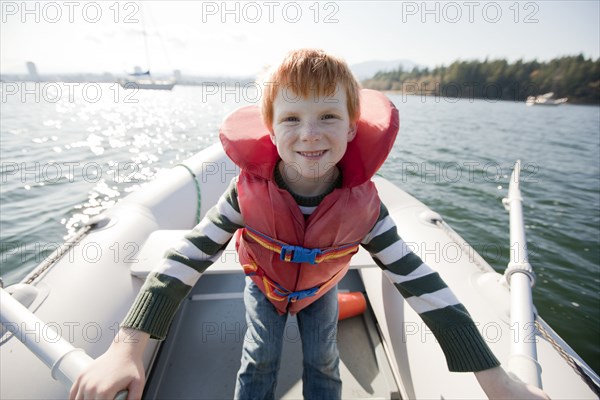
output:
[[[164,339],[177,309],[202,273],[223,253],[244,222],[237,200],[237,178],[200,223],[152,270],[121,323]]]

